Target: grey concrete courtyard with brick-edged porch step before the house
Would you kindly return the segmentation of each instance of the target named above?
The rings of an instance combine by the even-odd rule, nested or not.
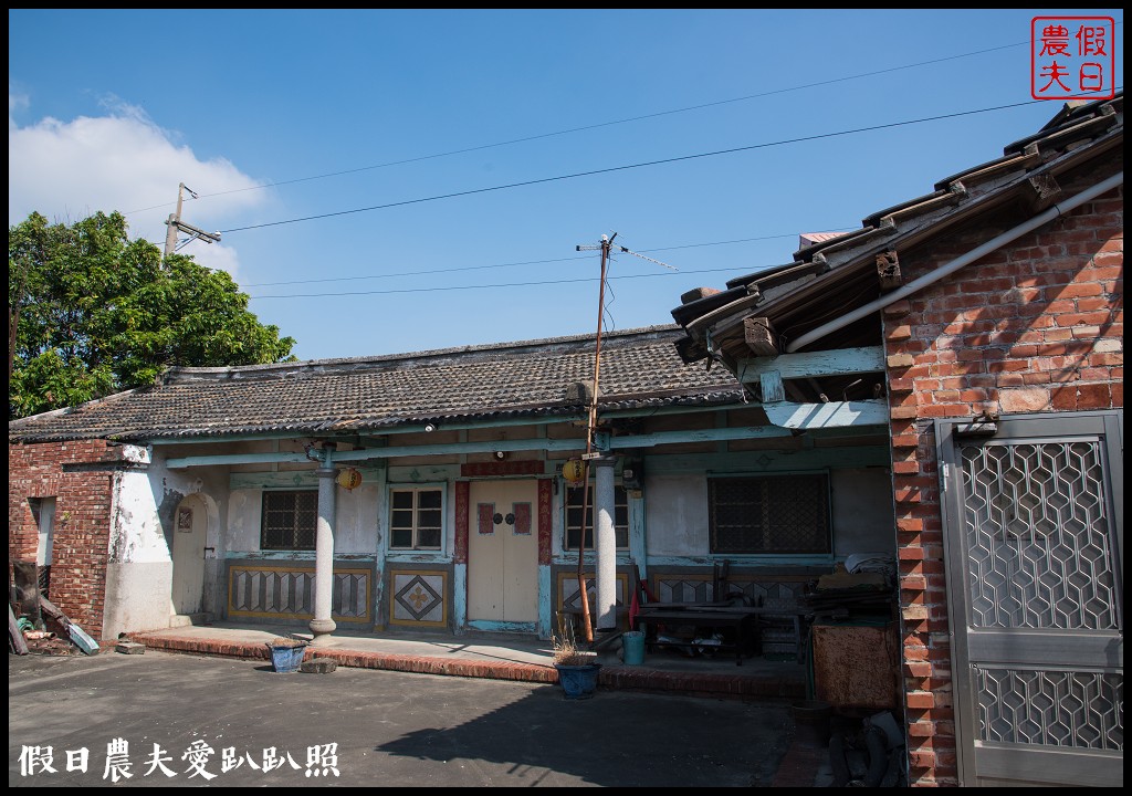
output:
[[[144,654],[9,656],[9,785],[830,781],[825,751],[795,731],[801,667],[792,661],[736,666],[654,650],[626,667],[615,650],[603,657],[598,693],[566,700],[549,647],[533,637],[335,634],[307,656],[334,659],[334,671],[277,674],[265,641],[293,631],[182,627],[137,639]],[[118,758],[108,745],[118,738],[132,777],[113,782],[108,760]],[[174,776],[154,764],[155,745]],[[48,748],[54,771],[43,768]],[[82,750],[86,771],[68,771]]]

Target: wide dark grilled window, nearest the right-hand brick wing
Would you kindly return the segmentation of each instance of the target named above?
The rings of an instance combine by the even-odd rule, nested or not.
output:
[[[830,553],[824,474],[707,480],[712,553]]]

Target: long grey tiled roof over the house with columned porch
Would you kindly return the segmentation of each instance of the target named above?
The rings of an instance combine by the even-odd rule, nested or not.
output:
[[[738,401],[722,368],[680,361],[677,326],[601,342],[604,410]],[[8,423],[9,442],[123,442],[234,435],[355,434],[402,423],[577,414],[567,387],[592,385],[594,335],[417,353],[233,368],[177,368],[160,384]]]

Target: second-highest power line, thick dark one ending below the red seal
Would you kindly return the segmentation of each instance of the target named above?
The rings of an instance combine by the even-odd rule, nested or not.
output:
[[[265,224],[251,224],[251,225],[248,225],[248,226],[233,226],[230,230],[221,230],[221,232],[223,234],[229,234],[229,233],[232,233],[232,232],[245,232],[247,230],[260,230],[260,229],[265,229],[267,226],[282,226],[284,224],[295,224],[295,223],[299,223],[301,221],[317,221],[317,220],[320,220],[320,219],[333,219],[335,216],[341,216],[341,215],[352,215],[354,213],[368,213],[370,211],[388,209],[391,207],[404,207],[406,205],[417,205],[417,204],[422,204],[424,202],[436,202],[438,199],[453,199],[453,198],[461,197],[461,196],[474,196],[477,194],[489,194],[491,191],[506,190],[506,189],[509,189],[509,188],[523,188],[523,187],[526,187],[526,186],[542,185],[542,183],[546,183],[546,182],[558,182],[558,181],[561,181],[561,180],[572,180],[572,179],[576,179],[578,177],[594,177],[597,174],[609,174],[609,173],[617,172],[617,171],[628,171],[628,170],[632,170],[632,169],[643,169],[645,166],[651,166],[651,165],[663,165],[663,164],[667,164],[667,163],[679,163],[681,161],[693,161],[693,160],[698,160],[698,159],[703,159],[703,157],[714,157],[717,155],[731,155],[731,154],[735,154],[737,152],[751,152],[753,149],[764,149],[764,148],[772,147],[772,146],[783,146],[786,144],[800,144],[800,143],[804,143],[804,142],[821,140],[821,139],[824,139],[824,138],[837,138],[839,136],[855,135],[855,134],[858,134],[858,132],[875,132],[876,130],[892,129],[892,128],[895,128],[895,127],[906,127],[908,125],[920,125],[920,123],[928,122],[928,121],[942,121],[944,119],[958,119],[960,117],[975,115],[977,113],[989,113],[992,111],[1003,111],[1003,110],[1009,110],[1009,109],[1012,109],[1012,108],[1022,108],[1022,106],[1026,106],[1026,105],[1035,105],[1035,104],[1038,104],[1038,103],[1041,103],[1041,102],[1045,102],[1045,100],[1030,100],[1030,101],[1027,101],[1027,102],[1015,102],[1015,103],[1011,103],[1011,104],[1007,104],[1007,105],[995,105],[993,108],[980,108],[980,109],[972,110],[972,111],[958,111],[955,113],[944,113],[944,114],[934,115],[934,117],[923,117],[920,119],[908,119],[908,120],[904,120],[904,121],[893,121],[893,122],[889,122],[889,123],[885,123],[885,125],[872,125],[869,127],[858,127],[858,128],[854,128],[854,129],[849,129],[849,130],[839,130],[837,132],[822,132],[822,134],[814,135],[814,136],[801,136],[799,138],[786,138],[786,139],[782,139],[782,140],[767,142],[767,143],[764,143],[764,144],[751,144],[748,146],[737,146],[737,147],[731,147],[729,149],[717,149],[714,152],[702,152],[702,153],[698,153],[698,154],[695,154],[695,155],[680,155],[678,157],[664,157],[664,159],[657,160],[657,161],[645,161],[645,162],[642,162],[642,163],[631,163],[631,164],[627,164],[627,165],[610,166],[608,169],[593,169],[591,171],[580,171],[580,172],[575,172],[575,173],[572,173],[572,174],[559,174],[557,177],[543,177],[543,178],[535,179],[535,180],[524,180],[522,182],[509,182],[507,185],[491,186],[489,188],[472,188],[470,190],[461,190],[461,191],[455,191],[455,192],[452,192],[452,194],[439,194],[439,195],[436,195],[436,196],[427,196],[427,197],[422,197],[422,198],[419,198],[419,199],[404,199],[402,202],[389,202],[389,203],[384,204],[384,205],[371,205],[369,207],[355,207],[353,209],[348,209],[348,211],[336,211],[334,213],[321,213],[319,215],[308,215],[308,216],[303,216],[301,219],[288,219],[285,221],[272,221],[272,222],[267,222]]]

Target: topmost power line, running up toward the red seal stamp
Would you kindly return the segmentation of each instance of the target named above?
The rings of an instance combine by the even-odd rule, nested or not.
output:
[[[494,148],[497,148],[497,147],[500,147],[500,146],[511,146],[513,144],[524,144],[526,142],[540,140],[542,138],[554,138],[556,136],[565,136],[565,135],[569,135],[572,132],[584,132],[585,130],[595,130],[595,129],[600,129],[602,127],[614,127],[616,125],[627,125],[627,123],[633,122],[633,121],[644,121],[646,119],[657,119],[657,118],[666,117],[666,115],[675,115],[677,113],[687,113],[689,111],[700,111],[700,110],[703,110],[705,108],[717,108],[719,105],[729,105],[729,104],[734,104],[736,102],[747,102],[749,100],[758,100],[758,99],[762,99],[762,97],[765,97],[765,96],[773,96],[775,94],[788,94],[790,92],[804,91],[806,88],[817,88],[820,86],[829,86],[829,85],[833,85],[833,84],[837,84],[837,83],[846,83],[848,80],[859,80],[859,79],[861,79],[864,77],[876,77],[877,75],[887,75],[887,74],[891,74],[891,72],[894,72],[894,71],[902,71],[904,69],[915,69],[915,68],[918,68],[918,67],[931,66],[933,63],[944,63],[946,61],[954,61],[954,60],[958,60],[958,59],[961,59],[961,58],[970,58],[972,55],[983,55],[985,53],[996,52],[998,50],[1009,50],[1011,48],[1022,46],[1024,44],[1029,44],[1029,42],[1017,42],[1014,44],[1002,44],[1000,46],[987,48],[985,50],[975,50],[972,52],[964,52],[964,53],[960,53],[958,55],[945,55],[943,58],[934,58],[934,59],[931,59],[931,60],[927,60],[927,61],[918,61],[916,63],[906,63],[906,65],[899,66],[899,67],[887,67],[885,69],[876,69],[874,71],[860,72],[858,75],[847,75],[844,77],[834,77],[834,78],[830,78],[829,80],[817,80],[815,83],[804,83],[801,85],[790,86],[790,87],[787,87],[787,88],[774,88],[774,89],[766,91],[766,92],[760,92],[758,94],[746,94],[744,96],[736,96],[736,97],[731,97],[731,99],[728,99],[728,100],[717,100],[714,102],[704,102],[704,103],[700,103],[697,105],[688,105],[686,108],[676,108],[676,109],[668,110],[668,111],[657,111],[654,113],[643,113],[641,115],[627,117],[625,119],[615,119],[615,120],[611,120],[611,121],[602,121],[602,122],[598,122],[598,123],[594,123],[594,125],[584,125],[582,127],[571,127],[571,128],[567,128],[565,130],[556,130],[554,132],[540,132],[540,134],[537,134],[537,135],[533,135],[533,136],[524,136],[523,138],[512,138],[509,140],[496,142],[495,144],[481,144],[479,146],[469,146],[469,147],[463,147],[461,149],[451,149],[448,152],[438,152],[438,153],[431,154],[431,155],[420,155],[418,157],[406,157],[406,159],[403,159],[403,160],[400,160],[400,161],[388,161],[388,162],[385,162],[385,163],[376,163],[374,165],[358,166],[355,169],[343,169],[342,171],[332,171],[332,172],[327,172],[325,174],[315,174],[312,177],[297,177],[297,178],[291,179],[291,180],[280,180],[277,182],[265,182],[264,185],[248,186],[247,188],[232,188],[231,190],[221,190],[221,191],[216,191],[215,194],[201,194],[199,197],[194,197],[194,198],[205,198],[205,199],[207,199],[207,198],[213,197],[213,196],[226,196],[229,194],[241,194],[241,192],[249,191],[249,190],[263,190],[265,188],[277,188],[280,186],[289,186],[289,185],[294,185],[294,183],[298,183],[298,182],[310,182],[312,180],[323,180],[323,179],[328,179],[331,177],[344,177],[345,174],[357,174],[357,173],[362,172],[362,171],[374,171],[376,169],[387,169],[387,168],[394,166],[394,165],[405,165],[408,163],[419,163],[421,161],[436,160],[438,157],[449,157],[452,155],[463,155],[463,154],[468,154],[470,152],[481,152],[483,149],[494,149]],[[126,214],[129,215],[131,213],[144,213],[145,211],[156,209],[158,207],[165,207],[165,206],[168,206],[168,204],[169,203],[164,203],[164,204],[161,204],[161,205],[153,205],[151,207],[142,207],[142,208],[136,209],[136,211],[128,211]]]

